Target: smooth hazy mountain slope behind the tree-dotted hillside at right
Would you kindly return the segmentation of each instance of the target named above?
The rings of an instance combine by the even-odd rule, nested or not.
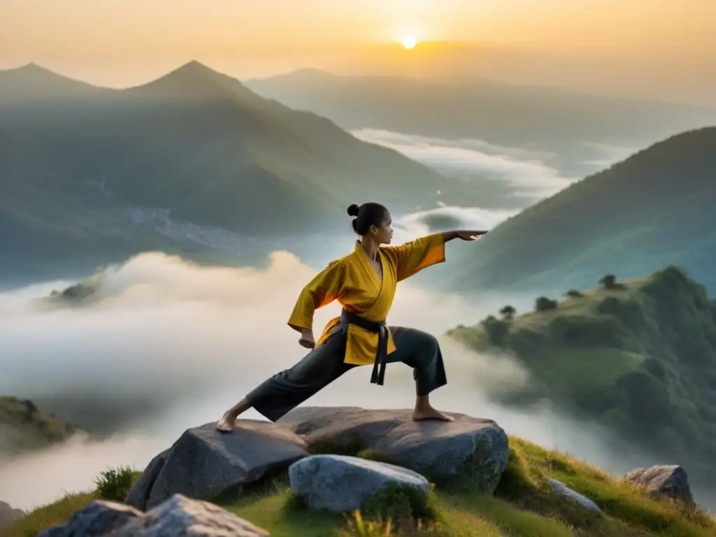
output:
[[[444,289],[539,290],[683,266],[716,291],[716,127],[662,140],[451,253]]]

